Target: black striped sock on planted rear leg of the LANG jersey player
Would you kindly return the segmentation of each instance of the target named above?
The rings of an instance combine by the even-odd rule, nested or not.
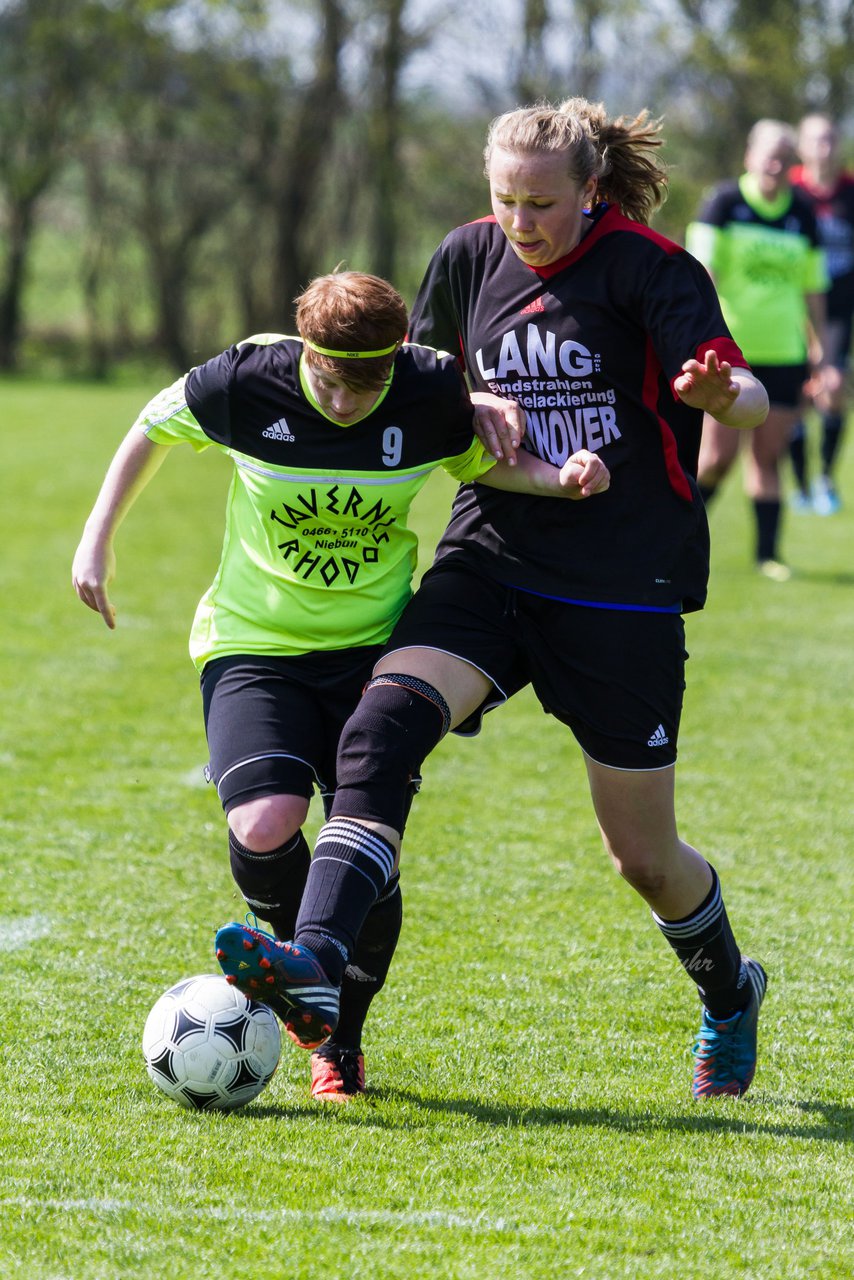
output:
[[[713,1018],[722,1019],[744,1009],[750,998],[739,951],[721,896],[717,872],[700,905],[681,920],[653,919],[679,956],[685,973],[697,983],[700,1000]]]

